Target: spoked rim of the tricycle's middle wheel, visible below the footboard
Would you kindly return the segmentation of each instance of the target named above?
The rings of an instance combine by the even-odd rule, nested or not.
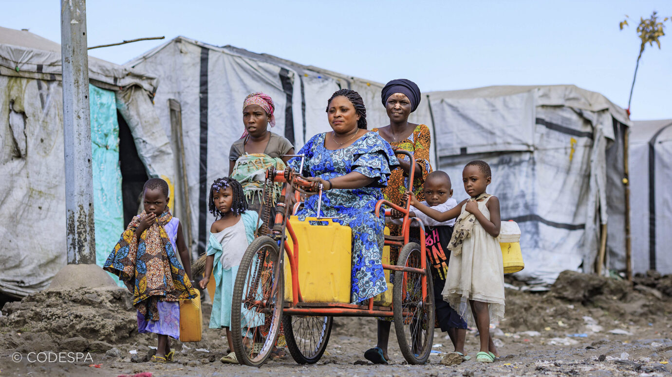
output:
[[[295,315],[291,317],[292,335],[298,351],[311,359],[320,354],[329,331],[331,317]]]

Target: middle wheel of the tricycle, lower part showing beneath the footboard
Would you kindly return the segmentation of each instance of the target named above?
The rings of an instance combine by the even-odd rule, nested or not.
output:
[[[285,315],[282,324],[287,349],[298,364],[315,364],[322,358],[331,335],[332,317]]]

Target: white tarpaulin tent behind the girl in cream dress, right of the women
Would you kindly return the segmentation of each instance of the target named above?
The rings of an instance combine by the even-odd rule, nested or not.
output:
[[[624,209],[607,200],[625,198],[623,109],[573,85],[428,95],[438,168],[452,178],[454,197],[466,199],[466,162],[491,165],[488,191],[499,197],[502,219],[522,231],[526,268],[517,276],[548,283],[562,270],[592,272],[600,223],[608,225],[607,266],[624,270]]]

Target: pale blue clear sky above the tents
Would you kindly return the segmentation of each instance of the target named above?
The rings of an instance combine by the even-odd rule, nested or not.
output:
[[[60,1],[2,0],[0,25],[60,41]],[[422,91],[574,84],[626,107],[636,21],[672,1],[87,1],[89,46],[186,36]],[[630,15],[630,28],[618,23]],[[647,46],[632,119],[672,118],[672,23]],[[123,64],[166,41],[91,50]]]

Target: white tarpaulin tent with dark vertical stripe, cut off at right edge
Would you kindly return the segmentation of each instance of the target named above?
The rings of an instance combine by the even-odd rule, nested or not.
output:
[[[633,122],[629,164],[632,269],[672,274],[672,119]]]

